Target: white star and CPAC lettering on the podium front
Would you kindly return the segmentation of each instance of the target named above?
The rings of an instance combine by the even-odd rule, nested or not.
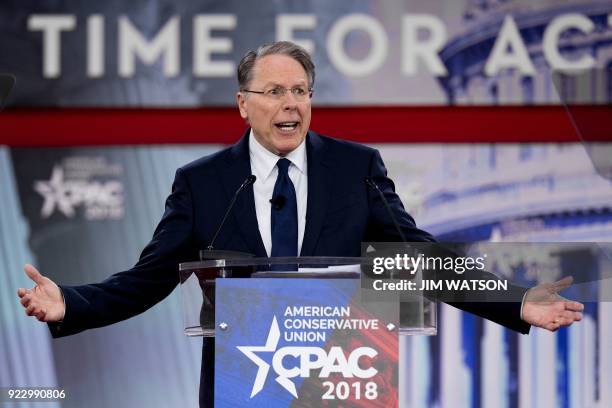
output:
[[[339,373],[344,378],[372,378],[378,373],[374,367],[362,368],[360,360],[363,357],[373,358],[378,352],[371,347],[359,347],[351,351],[348,358],[344,355],[341,347],[334,346],[326,352],[321,347],[281,347],[277,350],[278,340],[280,339],[280,330],[276,316],[272,320],[268,338],[264,346],[238,346],[244,355],[246,355],[253,363],[257,364],[258,370],[251,391],[251,398],[257,395],[264,387],[270,364],[264,361],[256,353],[258,352],[274,352],[272,357],[272,369],[276,373],[276,382],[279,383],[295,398],[298,398],[295,383],[292,378],[310,377],[312,370],[318,370],[319,378],[327,378],[332,373]],[[287,367],[285,357],[294,357],[299,361],[297,366]]]

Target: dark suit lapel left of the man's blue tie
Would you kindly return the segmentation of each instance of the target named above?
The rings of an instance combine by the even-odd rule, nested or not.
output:
[[[218,173],[223,179],[228,203],[247,176],[252,174],[249,156],[249,132],[250,129],[247,129],[242,139],[230,149],[229,154],[226,156],[226,166],[218,169]],[[258,257],[268,256],[259,234],[252,185],[240,193],[232,209],[231,216],[234,218],[236,225],[238,225],[240,233],[250,251]]]

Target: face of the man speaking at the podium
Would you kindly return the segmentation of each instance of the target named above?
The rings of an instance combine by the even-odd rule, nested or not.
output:
[[[308,75],[302,65],[286,55],[267,55],[255,62],[252,91],[281,87],[309,89]],[[255,138],[274,154],[284,156],[297,148],[310,126],[310,98],[296,99],[287,92],[280,99],[262,94],[238,92],[240,116],[247,120]]]

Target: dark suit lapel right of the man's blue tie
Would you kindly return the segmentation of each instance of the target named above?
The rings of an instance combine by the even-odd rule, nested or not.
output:
[[[308,203],[306,208],[306,228],[302,241],[301,256],[313,256],[325,220],[325,213],[331,193],[332,173],[323,141],[314,132],[308,132],[306,155],[308,160]]]

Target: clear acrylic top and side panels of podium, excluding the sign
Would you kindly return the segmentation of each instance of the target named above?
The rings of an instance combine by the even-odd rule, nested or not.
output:
[[[381,301],[368,291],[365,279],[371,278],[372,259],[367,257],[287,257],[228,258],[185,262],[179,266],[183,320],[187,336],[214,337],[216,282],[219,279],[351,279],[362,287],[364,302]],[[416,274],[412,279],[422,279]],[[387,296],[382,301],[397,302],[399,335],[436,335],[436,302],[417,294]]]

